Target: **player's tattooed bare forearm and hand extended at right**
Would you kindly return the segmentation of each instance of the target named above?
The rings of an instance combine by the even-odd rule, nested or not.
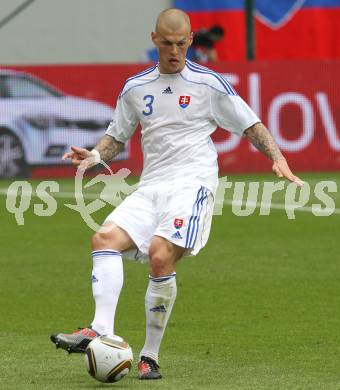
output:
[[[303,185],[303,181],[293,175],[274,138],[261,122],[249,127],[244,134],[260,152],[273,161],[272,169],[276,176],[285,177],[299,186]]]

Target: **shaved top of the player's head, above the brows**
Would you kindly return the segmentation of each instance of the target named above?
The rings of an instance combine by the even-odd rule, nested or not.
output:
[[[156,21],[156,32],[185,31],[190,33],[189,16],[178,8],[168,8],[162,11]]]

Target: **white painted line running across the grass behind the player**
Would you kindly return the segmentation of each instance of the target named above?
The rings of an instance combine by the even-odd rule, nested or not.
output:
[[[13,195],[13,196],[16,196],[17,193],[16,192],[10,192],[9,194],[7,194],[7,189],[3,189],[3,188],[0,188],[0,195]],[[21,193],[21,196],[22,195],[26,195],[26,196],[32,196],[32,197],[35,197],[37,198],[38,195],[33,191],[32,193],[29,193],[29,192],[22,192]],[[54,198],[64,198],[64,199],[74,199],[74,192],[55,192],[55,193],[51,193],[51,196],[53,196]],[[83,197],[85,200],[90,200],[90,199],[98,199],[99,198],[99,195],[98,194],[83,194]],[[243,201],[240,201],[240,200],[232,200],[232,199],[225,199],[223,204],[225,205],[229,205],[229,206],[243,206],[245,205],[245,202]],[[276,210],[295,210],[295,211],[303,211],[303,212],[307,212],[307,213],[311,213],[313,211],[312,207],[311,206],[304,206],[304,207],[299,207],[299,208],[296,208],[296,206],[294,205],[285,205],[284,203],[261,203],[261,202],[247,202],[246,203],[249,207],[251,206],[255,206],[256,208],[260,208],[261,206],[262,207],[266,207],[266,208],[270,208],[270,209],[276,209]],[[331,214],[340,214],[340,208],[335,208],[334,210],[333,209],[322,209],[321,212],[322,213],[325,213],[326,215],[328,215],[329,213]]]

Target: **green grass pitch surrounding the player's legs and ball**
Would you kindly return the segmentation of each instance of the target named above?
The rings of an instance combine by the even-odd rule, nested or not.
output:
[[[316,183],[340,175],[302,174]],[[234,180],[272,180],[271,175]],[[33,185],[36,182],[31,181]],[[7,188],[9,182],[0,182]],[[61,181],[61,190],[73,181]],[[230,192],[226,193],[228,197]],[[340,196],[332,194],[336,207]],[[10,389],[340,389],[340,215],[284,210],[237,217],[226,205],[196,258],[180,262],[178,297],[162,344],[164,379],[136,378],[144,341],[147,265],[125,262],[116,333],[135,353],[132,372],[104,385],[49,340],[92,318],[90,237],[58,199],[51,217],[32,205],[17,226],[0,196],[0,388]],[[282,195],[275,198],[282,202]],[[311,200],[311,203],[313,199]],[[97,213],[102,220],[109,206]]]

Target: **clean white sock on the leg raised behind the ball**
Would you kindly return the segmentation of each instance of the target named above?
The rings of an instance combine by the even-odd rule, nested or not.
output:
[[[123,286],[120,252],[104,249],[92,252],[92,293],[96,304],[92,328],[101,335],[114,335],[114,317]]]

